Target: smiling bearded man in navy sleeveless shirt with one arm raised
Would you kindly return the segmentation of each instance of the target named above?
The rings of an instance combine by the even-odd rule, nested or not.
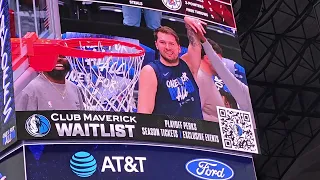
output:
[[[198,34],[204,34],[204,22],[184,18],[189,39],[187,57],[181,51],[177,33],[166,26],[154,32],[160,60],[144,66],[140,73],[138,113],[166,114],[203,119],[196,83],[201,60]]]

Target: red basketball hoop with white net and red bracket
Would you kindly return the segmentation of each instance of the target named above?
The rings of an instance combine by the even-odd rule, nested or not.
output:
[[[13,44],[16,41],[11,40]],[[133,94],[145,55],[142,47],[103,38],[41,40],[31,35],[23,41],[30,66],[36,71],[51,71],[59,55],[67,57],[72,68],[69,75],[83,94],[86,110],[136,109]]]

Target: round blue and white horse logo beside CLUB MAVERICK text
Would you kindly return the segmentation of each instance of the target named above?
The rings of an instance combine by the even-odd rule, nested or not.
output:
[[[50,132],[50,121],[39,114],[30,116],[25,124],[27,132],[33,137],[44,137]]]

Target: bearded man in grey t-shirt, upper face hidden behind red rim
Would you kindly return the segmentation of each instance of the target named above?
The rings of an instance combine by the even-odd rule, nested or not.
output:
[[[59,56],[55,68],[40,73],[15,98],[17,111],[84,110],[78,87],[66,80],[70,64]]]

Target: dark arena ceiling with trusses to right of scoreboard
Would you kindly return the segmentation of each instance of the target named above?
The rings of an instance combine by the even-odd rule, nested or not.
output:
[[[315,13],[320,4],[316,6],[317,0],[233,0],[233,4],[262,150],[255,158],[258,179],[293,179],[295,168],[301,179],[301,159],[307,155],[317,159],[307,152],[317,154],[312,149],[320,142],[320,29]],[[315,167],[308,168],[320,172]]]

